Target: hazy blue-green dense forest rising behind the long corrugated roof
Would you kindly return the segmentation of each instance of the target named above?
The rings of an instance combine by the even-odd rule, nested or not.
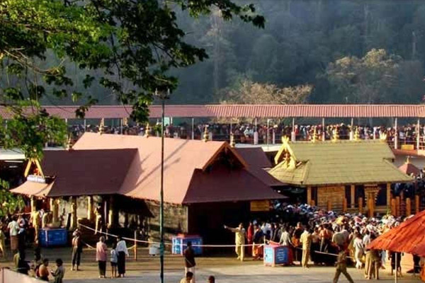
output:
[[[237,0],[254,3],[265,28],[220,12],[193,18],[176,7],[186,42],[209,58],[176,69],[179,87],[170,103],[261,103],[232,93],[259,86],[263,103],[420,103],[424,96],[425,2],[354,0]],[[54,58],[50,58],[54,60]],[[67,66],[74,80],[86,74]],[[94,73],[96,76],[96,73]],[[308,93],[305,90],[309,89]],[[297,93],[297,90],[304,91]],[[109,91],[89,89],[99,104],[114,104]],[[282,98],[295,93],[295,99]],[[302,96],[307,94],[307,96]],[[232,96],[232,99],[229,97]],[[301,97],[302,96],[302,97]],[[301,99],[300,99],[301,98]],[[67,98],[71,103],[71,99]],[[64,103],[45,98],[43,103]]]

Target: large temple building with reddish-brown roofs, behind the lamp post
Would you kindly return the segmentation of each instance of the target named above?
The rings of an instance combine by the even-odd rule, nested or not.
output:
[[[28,178],[12,191],[32,197],[33,209],[50,204],[54,223],[73,229],[101,217],[111,229],[133,224],[158,238],[159,137],[85,133],[72,149],[45,151],[40,166],[44,183]],[[247,222],[268,211],[271,200],[285,198],[271,188],[277,180],[263,180],[256,171],[225,141],[166,139],[166,238],[186,233],[203,236],[205,243],[232,241],[224,224]]]

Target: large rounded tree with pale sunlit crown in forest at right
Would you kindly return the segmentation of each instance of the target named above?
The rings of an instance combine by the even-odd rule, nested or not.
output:
[[[414,76],[407,78],[414,68]],[[416,100],[420,93],[410,93],[421,84],[423,71],[420,64],[406,62],[385,50],[370,50],[363,58],[344,57],[329,63],[323,77],[329,82],[331,102],[390,103]],[[402,83],[400,82],[407,82]],[[404,89],[400,93],[400,89]],[[409,93],[408,96],[402,94]],[[413,98],[412,98],[413,96]],[[409,100],[407,100],[410,98]]]

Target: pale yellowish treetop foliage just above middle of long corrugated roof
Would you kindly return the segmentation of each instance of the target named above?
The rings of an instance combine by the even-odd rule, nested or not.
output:
[[[240,81],[236,88],[226,90],[222,103],[233,104],[302,104],[312,92],[312,86],[279,88],[271,83]]]

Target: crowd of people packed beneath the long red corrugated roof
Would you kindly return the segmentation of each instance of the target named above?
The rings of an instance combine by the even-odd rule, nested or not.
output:
[[[273,135],[275,141],[279,142],[281,137],[291,137],[295,134],[295,138],[300,141],[309,141],[313,139],[314,132],[317,134],[318,139],[329,140],[338,136],[339,139],[350,139],[350,135],[354,136],[357,132],[360,139],[387,139],[388,142],[393,142],[395,139],[395,127],[385,126],[368,126],[368,125],[355,125],[351,129],[351,125],[333,124],[333,125],[292,125],[279,123],[276,125],[251,123],[198,123],[193,127],[193,138],[203,139],[205,127],[208,127],[208,132],[213,140],[225,141],[230,139],[230,134],[234,135],[234,140],[241,144],[252,144],[254,142],[254,132],[258,132],[259,144],[266,144],[267,139],[269,143],[273,142]],[[74,140],[79,139],[84,132],[99,132],[99,125],[70,125],[69,134]],[[147,129],[146,125],[125,125],[121,126],[105,126],[103,131],[107,134],[130,134],[143,136],[149,132],[150,135],[159,135],[160,125],[158,123],[152,124]],[[351,134],[352,133],[352,134]],[[416,144],[417,125],[404,125],[397,127],[397,136],[399,144]],[[192,125],[188,123],[181,123],[179,125],[166,125],[165,136],[181,139],[191,139]],[[424,126],[420,127],[420,136],[425,139]],[[424,142],[425,140],[421,140]]]

